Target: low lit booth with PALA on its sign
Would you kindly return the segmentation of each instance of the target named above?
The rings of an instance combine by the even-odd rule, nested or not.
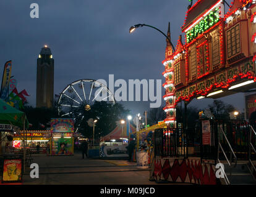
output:
[[[30,150],[31,153],[46,153],[50,138],[51,131],[20,131],[20,133],[14,134],[12,149],[19,152],[23,147],[23,142],[25,142],[27,149]],[[36,145],[40,145],[39,152],[36,149]]]

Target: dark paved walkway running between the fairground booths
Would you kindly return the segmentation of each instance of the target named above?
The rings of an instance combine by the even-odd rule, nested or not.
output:
[[[33,156],[39,165],[39,179],[23,175],[23,184],[102,184],[102,185],[151,185],[148,169],[138,169],[136,163],[124,160],[82,159],[74,156]]]

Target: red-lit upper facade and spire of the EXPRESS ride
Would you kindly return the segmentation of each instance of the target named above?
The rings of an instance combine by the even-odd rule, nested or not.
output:
[[[176,105],[193,98],[220,98],[255,88],[256,0],[198,0],[189,10],[176,50],[166,46],[166,119],[176,127]],[[168,30],[169,34],[169,30]]]

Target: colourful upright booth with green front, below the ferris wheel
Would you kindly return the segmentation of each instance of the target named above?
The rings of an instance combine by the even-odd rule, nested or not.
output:
[[[51,119],[52,156],[74,155],[74,119]]]

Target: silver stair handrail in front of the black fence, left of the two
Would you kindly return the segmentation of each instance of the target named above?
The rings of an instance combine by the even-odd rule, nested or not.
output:
[[[224,139],[225,139],[226,142],[228,143],[228,146],[229,146],[229,148],[230,148],[230,150],[231,150],[231,153],[233,153],[233,156],[234,156],[234,159],[235,159],[235,165],[234,165],[234,167],[236,167],[236,164],[237,164],[237,157],[236,157],[236,154],[234,153],[233,148],[231,147],[231,145],[230,145],[230,143],[229,143],[229,141],[228,141],[228,138],[226,137],[226,134],[225,134],[224,131],[223,131],[222,125],[220,125],[220,128],[221,128],[222,134],[224,135]],[[221,143],[220,143],[220,138],[218,138],[218,141],[219,141],[219,142],[218,142],[218,162],[221,163],[221,162],[220,162],[220,148],[221,148],[221,151],[222,151],[224,157],[226,158],[226,161],[228,161],[228,165],[231,167],[231,164],[232,164],[232,154],[230,154],[230,162],[229,162],[229,159],[228,159],[228,157],[226,156],[226,153],[225,153],[225,151],[224,151],[224,149],[223,149],[223,147],[222,147],[222,145],[221,145]],[[222,169],[222,167],[221,167],[221,170],[222,170],[222,172],[223,172],[223,174],[224,174],[224,180],[225,180],[226,184],[229,185],[230,182],[229,182],[229,180],[228,180],[228,177],[227,177],[227,175],[226,175],[226,172],[224,172],[224,169]]]

